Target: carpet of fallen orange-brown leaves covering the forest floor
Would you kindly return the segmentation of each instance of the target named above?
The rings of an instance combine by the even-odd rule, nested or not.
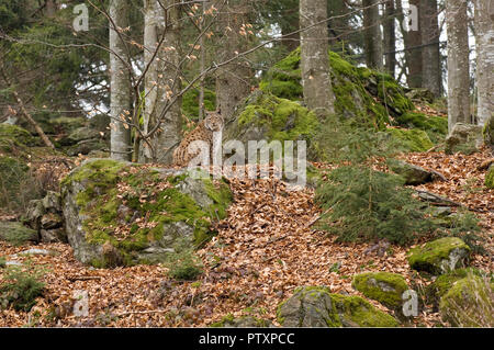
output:
[[[429,151],[402,157],[447,179],[416,189],[447,196],[481,219],[480,236],[487,252],[474,255],[471,266],[484,271],[494,270],[494,191],[483,185],[484,172],[476,169],[490,157],[487,150],[470,156]],[[205,327],[226,315],[252,315],[277,325],[278,304],[301,285],[326,285],[334,293],[359,295],[351,278],[363,271],[396,272],[417,287],[431,283],[411,270],[409,247],[391,245],[378,256],[367,252],[373,244],[335,242],[334,237],[313,229],[321,210],[312,189],[285,191],[274,179],[232,179],[231,187],[234,203],[227,218],[217,224],[217,236],[199,251],[204,273],[197,281],[173,281],[164,266],[93,269],[78,262],[69,245],[40,244],[36,248],[54,253],[18,260],[43,268],[46,292],[30,313],[0,311],[0,327]],[[27,248],[0,241],[2,256]],[[70,315],[75,291],[89,293],[88,317]],[[435,327],[441,320],[426,305],[407,326]]]

